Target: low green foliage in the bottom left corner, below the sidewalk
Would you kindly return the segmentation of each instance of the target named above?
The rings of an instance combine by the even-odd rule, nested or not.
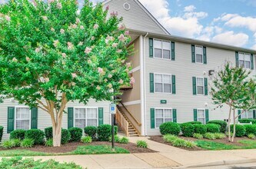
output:
[[[3,158],[0,162],[0,168],[13,168],[13,169],[25,169],[25,168],[37,168],[37,169],[81,169],[82,167],[78,166],[75,163],[59,163],[54,160],[35,161],[33,158],[24,158],[22,157],[12,157],[12,158]]]

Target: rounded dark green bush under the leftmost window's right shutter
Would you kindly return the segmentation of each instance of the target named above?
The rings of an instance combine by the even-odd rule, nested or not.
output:
[[[25,131],[25,138],[34,140],[34,144],[45,144],[45,132],[39,129]]]

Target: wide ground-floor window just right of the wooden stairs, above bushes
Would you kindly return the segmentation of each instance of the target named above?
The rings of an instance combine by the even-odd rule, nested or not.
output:
[[[172,109],[155,108],[155,128],[168,121],[172,121]]]

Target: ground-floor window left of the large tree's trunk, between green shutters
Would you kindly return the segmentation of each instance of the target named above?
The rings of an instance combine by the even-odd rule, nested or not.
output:
[[[31,110],[26,107],[15,107],[15,130],[30,129]]]

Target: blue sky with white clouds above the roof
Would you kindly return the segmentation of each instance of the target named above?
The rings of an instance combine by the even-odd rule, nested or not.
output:
[[[256,50],[256,0],[139,1],[171,35]]]

